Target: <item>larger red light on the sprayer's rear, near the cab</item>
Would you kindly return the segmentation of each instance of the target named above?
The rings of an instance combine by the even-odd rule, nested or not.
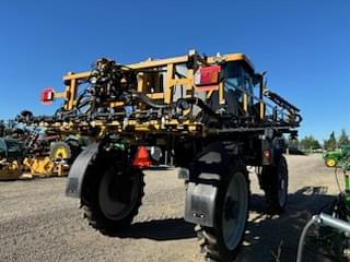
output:
[[[195,85],[205,86],[206,91],[218,90],[220,72],[220,66],[199,68],[195,74]],[[203,88],[201,87],[201,90]]]

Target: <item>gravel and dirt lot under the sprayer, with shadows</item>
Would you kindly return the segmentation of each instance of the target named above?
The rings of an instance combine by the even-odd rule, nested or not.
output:
[[[319,155],[288,156],[288,211],[265,214],[255,176],[244,247],[237,261],[295,261],[300,231],[337,194]],[[0,182],[0,261],[202,261],[192,225],[183,221],[184,187],[174,170],[148,171],[143,205],[130,230],[106,237],[63,195],[66,178]],[[273,255],[275,254],[275,255]]]

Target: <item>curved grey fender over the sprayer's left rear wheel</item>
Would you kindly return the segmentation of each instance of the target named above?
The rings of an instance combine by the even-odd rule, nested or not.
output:
[[[98,153],[100,143],[92,143],[83,150],[75,158],[68,175],[66,195],[80,198],[81,189],[86,175],[89,165],[93,162]]]

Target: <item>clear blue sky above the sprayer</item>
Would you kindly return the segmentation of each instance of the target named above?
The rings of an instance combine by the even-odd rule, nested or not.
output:
[[[0,119],[51,114],[40,91],[62,90],[66,72],[100,57],[128,63],[196,48],[243,51],[267,70],[268,87],[301,108],[301,136],[350,132],[349,1],[2,0],[0,12]]]

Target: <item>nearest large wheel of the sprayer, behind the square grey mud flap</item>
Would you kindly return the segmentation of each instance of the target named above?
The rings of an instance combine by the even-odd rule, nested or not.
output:
[[[195,227],[201,252],[207,261],[233,261],[240,251],[244,238],[249,211],[249,181],[246,167],[243,163],[237,160],[235,164],[230,168],[218,192],[214,227],[203,227],[200,225]],[[235,184],[234,189],[237,189],[235,191],[237,194],[230,203],[228,198],[231,195],[229,188],[233,183]],[[238,205],[233,206],[232,204]],[[228,214],[228,211],[230,211],[230,214]],[[235,218],[231,216],[235,216]],[[232,231],[225,230],[229,223],[237,223],[238,219],[238,226],[233,225]]]

